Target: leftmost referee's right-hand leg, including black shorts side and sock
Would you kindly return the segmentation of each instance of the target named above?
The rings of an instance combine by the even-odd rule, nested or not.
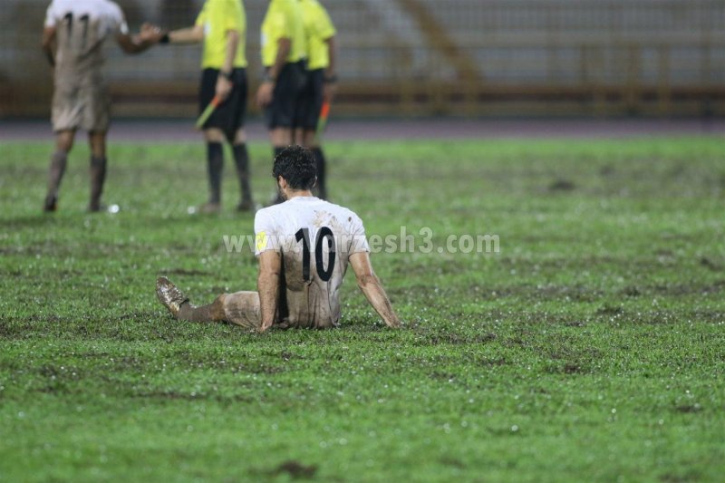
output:
[[[249,184],[249,152],[247,150],[247,132],[244,130],[247,117],[247,70],[235,69],[232,73],[234,88],[229,94],[227,140],[232,146],[234,162],[237,167],[239,180],[238,211],[248,211],[254,208],[252,189]]]

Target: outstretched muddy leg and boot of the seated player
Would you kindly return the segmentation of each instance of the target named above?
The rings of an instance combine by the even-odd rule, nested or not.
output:
[[[259,295],[256,292],[222,294],[208,305],[194,306],[166,277],[156,283],[159,301],[174,318],[189,322],[227,322],[257,329],[261,321]]]

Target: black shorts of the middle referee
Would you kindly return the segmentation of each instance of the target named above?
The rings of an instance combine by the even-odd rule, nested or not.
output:
[[[268,129],[294,128],[298,124],[305,80],[304,61],[285,63],[277,77],[272,102],[265,109]]]

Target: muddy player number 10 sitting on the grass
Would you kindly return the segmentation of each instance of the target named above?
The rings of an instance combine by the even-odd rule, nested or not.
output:
[[[223,294],[213,304],[196,307],[160,277],[156,293],[161,304],[179,320],[228,322],[260,332],[272,326],[334,327],[340,322],[340,286],[349,264],[385,324],[400,326],[372,271],[360,217],[312,195],[317,179],[312,152],[299,146],[283,150],[273,174],[285,202],[256,213],[258,292]]]

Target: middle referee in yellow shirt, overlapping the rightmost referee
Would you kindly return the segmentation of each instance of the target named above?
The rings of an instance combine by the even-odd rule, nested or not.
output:
[[[294,142],[305,81],[306,46],[298,0],[270,0],[262,23],[262,64],[265,77],[256,92],[264,109],[276,156]]]

